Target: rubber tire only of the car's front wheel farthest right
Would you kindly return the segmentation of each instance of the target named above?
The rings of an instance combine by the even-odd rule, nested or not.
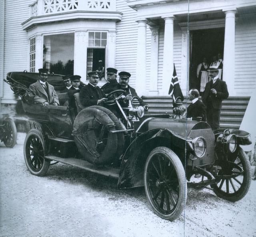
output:
[[[247,194],[247,192],[250,188],[251,181],[252,181],[252,172],[251,172],[251,165],[250,165],[249,159],[241,147],[239,147],[238,149],[239,149],[238,157],[240,158],[240,161],[242,162],[243,169],[244,169],[244,179],[242,182],[242,186],[239,188],[239,190],[237,192],[233,193],[232,195],[228,195],[228,196],[227,196],[226,192],[224,192],[224,191],[220,190],[220,188],[218,188],[217,184],[213,184],[211,186],[213,188],[213,192],[216,194],[216,196],[218,196],[219,198],[228,200],[228,201],[232,201],[232,202],[239,201],[242,198],[244,198],[244,196]]]

